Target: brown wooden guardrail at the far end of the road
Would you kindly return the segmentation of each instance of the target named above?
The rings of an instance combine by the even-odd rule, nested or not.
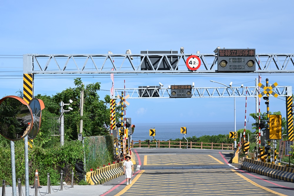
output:
[[[160,141],[157,140],[155,141],[150,141],[148,140],[146,141],[134,141],[132,140],[132,148],[151,148],[152,147],[156,147],[156,143],[157,143],[157,148],[186,148],[187,147],[187,143],[186,142],[176,142],[176,141]],[[188,148],[200,148],[200,149],[218,149],[218,150],[234,150],[234,145],[233,144],[224,144],[224,143],[203,143],[203,142],[188,142]]]

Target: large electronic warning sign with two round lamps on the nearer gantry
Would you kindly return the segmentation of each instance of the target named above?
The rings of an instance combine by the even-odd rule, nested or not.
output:
[[[254,72],[255,49],[217,49],[218,72]]]

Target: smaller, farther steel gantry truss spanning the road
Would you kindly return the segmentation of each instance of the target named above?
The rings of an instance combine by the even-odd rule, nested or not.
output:
[[[142,98],[170,98],[169,88],[115,88],[115,97],[122,91],[129,95],[128,99]],[[140,93],[141,92],[141,93]],[[152,93],[149,93],[152,92]],[[279,97],[292,96],[292,86],[276,86],[273,92]],[[154,97],[154,95],[158,95]],[[142,96],[144,95],[144,97]],[[246,97],[246,87],[196,87],[192,88],[191,98],[220,98],[220,97]],[[258,86],[247,87],[247,97],[258,97]]]

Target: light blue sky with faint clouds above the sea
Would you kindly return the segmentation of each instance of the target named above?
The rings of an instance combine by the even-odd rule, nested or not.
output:
[[[22,55],[133,54],[185,48],[185,53],[213,53],[221,48],[255,48],[256,53],[294,53],[293,1],[0,1],[0,96],[22,90]],[[20,55],[20,56],[16,56]],[[5,57],[5,58],[3,58]],[[11,57],[11,58],[8,58]],[[147,75],[146,75],[147,76]],[[55,95],[74,87],[74,76],[35,75],[35,95]],[[255,86],[258,74],[214,74],[183,77],[114,75],[114,88],[191,84],[196,87]],[[293,74],[262,74],[262,83],[292,86]],[[84,83],[101,82],[103,98],[110,76],[83,76]],[[233,98],[130,99],[126,117],[132,123],[233,122]],[[262,103],[261,112],[266,112]],[[270,111],[285,117],[285,98],[271,98]],[[255,98],[247,100],[247,119]],[[236,121],[244,122],[245,98],[236,98]],[[249,118],[249,123],[253,119]],[[150,125],[152,127],[152,125]]]

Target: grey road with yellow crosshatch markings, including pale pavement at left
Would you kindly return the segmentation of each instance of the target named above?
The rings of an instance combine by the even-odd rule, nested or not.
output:
[[[74,185],[74,188],[66,185],[63,191],[52,187],[50,195],[294,195],[292,182],[244,171],[240,164],[228,163],[231,150],[133,148],[132,151],[137,170],[131,185],[126,185],[123,175],[103,185]],[[38,195],[49,195],[46,192],[47,187],[42,187]],[[12,195],[11,187],[6,187],[6,195]],[[30,188],[30,195],[34,195],[34,189]]]

